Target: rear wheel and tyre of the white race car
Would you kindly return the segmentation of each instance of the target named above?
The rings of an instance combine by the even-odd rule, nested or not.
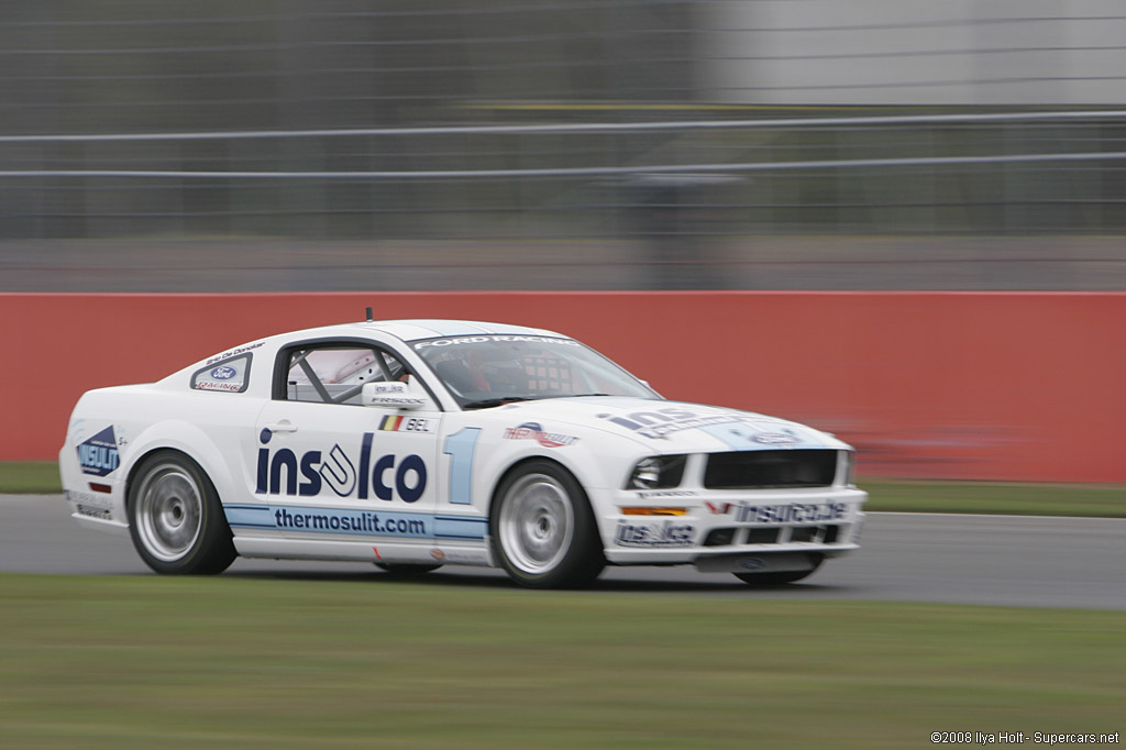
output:
[[[212,575],[238,556],[215,485],[181,453],[145,458],[129,482],[126,507],[133,546],[158,573]]]

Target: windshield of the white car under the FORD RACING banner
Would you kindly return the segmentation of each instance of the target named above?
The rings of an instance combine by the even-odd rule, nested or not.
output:
[[[464,409],[578,395],[660,398],[573,339],[462,336],[412,346]]]

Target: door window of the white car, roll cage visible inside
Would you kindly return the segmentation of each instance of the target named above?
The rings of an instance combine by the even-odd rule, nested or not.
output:
[[[285,356],[288,401],[358,405],[365,383],[397,381],[409,372],[391,352],[356,343],[295,347]]]

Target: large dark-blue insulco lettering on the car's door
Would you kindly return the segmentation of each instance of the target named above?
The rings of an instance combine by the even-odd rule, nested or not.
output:
[[[301,456],[289,448],[259,448],[254,492],[306,498],[320,494],[327,486],[341,498],[355,493],[367,500],[374,494],[379,500],[415,502],[426,492],[428,472],[422,456],[373,456],[373,432],[365,432],[358,454],[351,455],[339,444],[328,452],[306,450]],[[265,444],[269,439],[267,430],[262,430],[259,440]]]

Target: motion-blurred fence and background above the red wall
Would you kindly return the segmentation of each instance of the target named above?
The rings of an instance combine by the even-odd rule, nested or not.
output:
[[[7,0],[0,291],[1121,289],[1117,0]]]

